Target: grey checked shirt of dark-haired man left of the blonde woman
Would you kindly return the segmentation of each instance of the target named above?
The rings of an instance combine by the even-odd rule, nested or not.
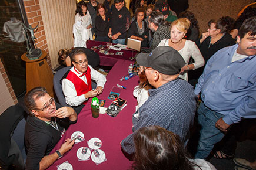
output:
[[[152,50],[154,50],[158,46],[161,40],[171,38],[171,32],[169,30],[169,27],[169,25],[159,25],[153,35],[153,42],[150,45],[150,52],[152,52]]]

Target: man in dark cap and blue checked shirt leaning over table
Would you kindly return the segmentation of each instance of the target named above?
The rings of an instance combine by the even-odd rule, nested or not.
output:
[[[182,56],[172,47],[160,46],[149,54],[140,53],[137,63],[155,89],[149,90],[148,100],[134,113],[139,116],[132,117],[132,131],[159,125],[178,134],[184,145],[187,145],[197,97],[187,81],[178,79],[185,65]],[[128,154],[133,154],[133,134],[122,140],[121,146]]]

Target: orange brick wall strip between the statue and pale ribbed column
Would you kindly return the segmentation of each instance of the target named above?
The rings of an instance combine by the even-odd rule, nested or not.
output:
[[[35,26],[39,23],[38,29],[35,32],[35,37],[37,38],[36,46],[39,49],[45,50],[47,52],[47,63],[49,67],[52,68],[48,45],[45,37],[44,23],[42,22],[39,0],[24,0],[23,2],[29,25],[31,25],[32,28],[35,28]]]

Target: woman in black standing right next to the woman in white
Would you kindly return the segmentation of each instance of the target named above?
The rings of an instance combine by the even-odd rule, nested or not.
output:
[[[109,42],[108,30],[109,30],[109,13],[103,4],[97,5],[97,16],[95,18],[95,27],[97,29],[96,40],[102,42]]]

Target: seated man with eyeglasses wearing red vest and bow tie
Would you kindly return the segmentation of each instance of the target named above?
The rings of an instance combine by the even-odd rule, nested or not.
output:
[[[66,103],[79,113],[88,98],[95,97],[103,91],[106,78],[88,65],[88,59],[84,50],[75,49],[71,54],[73,67],[66,73],[62,80],[62,91]],[[96,89],[92,89],[92,80],[97,83]]]

